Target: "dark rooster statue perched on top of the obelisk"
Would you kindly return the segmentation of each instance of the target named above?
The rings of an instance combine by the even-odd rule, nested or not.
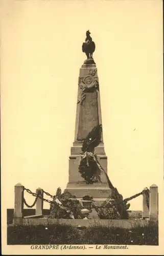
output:
[[[95,42],[92,41],[89,30],[86,31],[86,38],[82,45],[82,51],[85,52],[87,56],[84,63],[95,63],[92,57],[93,52],[95,52]]]

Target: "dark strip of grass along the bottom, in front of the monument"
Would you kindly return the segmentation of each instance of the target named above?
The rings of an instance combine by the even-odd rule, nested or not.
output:
[[[127,244],[158,245],[158,226],[129,229],[91,226],[79,230],[69,225],[9,226],[8,245],[14,244]]]

